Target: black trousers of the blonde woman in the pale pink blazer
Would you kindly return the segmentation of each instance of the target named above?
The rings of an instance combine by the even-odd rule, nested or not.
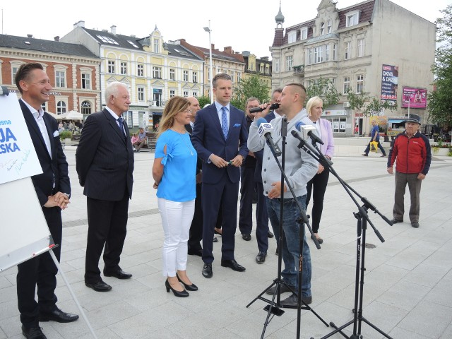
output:
[[[306,185],[308,191],[306,198],[306,209],[311,200],[312,193],[312,211],[311,211],[311,227],[312,232],[318,233],[320,227],[320,220],[322,218],[323,212],[323,198],[325,197],[326,186],[328,185],[328,178],[330,177],[330,172],[328,170],[323,170],[320,174],[314,175],[314,177],[309,180]]]

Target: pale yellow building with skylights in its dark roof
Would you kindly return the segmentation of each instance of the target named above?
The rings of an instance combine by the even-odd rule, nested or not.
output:
[[[155,27],[147,37],[117,34],[110,30],[91,30],[85,22],[74,24],[61,41],[82,44],[101,59],[102,95],[112,81],[129,85],[131,105],[124,119],[131,127],[153,126],[160,121],[170,97],[201,95],[203,59],[178,43],[164,42]]]

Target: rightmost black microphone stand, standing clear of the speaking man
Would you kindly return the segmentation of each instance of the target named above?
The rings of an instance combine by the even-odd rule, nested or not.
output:
[[[319,161],[319,163],[323,167],[328,169],[328,171],[330,171],[331,174],[333,174],[339,180],[340,184],[343,186],[343,188],[345,189],[347,194],[350,196],[350,198],[352,199],[352,201],[355,203],[355,205],[358,208],[358,212],[353,213],[353,215],[357,219],[357,249],[356,249],[357,261],[356,261],[356,276],[355,276],[355,308],[352,310],[353,311],[353,319],[351,321],[345,323],[343,326],[339,326],[339,327],[336,326],[335,323],[333,323],[331,321],[330,325],[331,325],[331,327],[335,328],[335,331],[328,333],[328,335],[325,335],[321,339],[329,338],[329,337],[331,337],[331,335],[334,335],[335,333],[338,333],[338,332],[341,335],[343,335],[345,338],[348,338],[348,339],[362,338],[362,335],[361,335],[362,321],[364,321],[364,323],[367,323],[367,325],[371,326],[371,328],[374,328],[374,330],[376,330],[379,333],[381,333],[382,335],[384,335],[386,338],[393,339],[388,334],[381,331],[380,328],[376,327],[373,323],[371,323],[370,321],[365,319],[364,316],[362,316],[362,300],[363,300],[363,293],[364,293],[364,271],[366,270],[366,268],[364,266],[364,259],[365,259],[367,222],[369,222],[369,225],[371,225],[371,227],[374,229],[374,232],[375,232],[376,236],[380,239],[380,241],[381,242],[385,241],[383,239],[383,237],[381,236],[379,230],[376,230],[375,226],[369,220],[369,215],[367,214],[367,211],[370,209],[370,210],[374,211],[374,213],[377,213],[378,215],[380,215],[380,217],[383,220],[385,220],[389,225],[392,226],[393,224],[390,220],[388,220],[388,218],[386,218],[386,216],[382,215],[379,212],[379,210],[377,210],[376,207],[374,205],[372,205],[372,203],[370,203],[370,201],[367,200],[367,198],[360,196],[357,193],[357,191],[355,191],[355,189],[352,189],[352,187],[350,187],[349,184],[344,182],[343,179],[341,179],[339,177],[337,172],[335,172],[335,170],[332,167],[333,163],[330,160],[326,159],[326,157],[321,153],[319,148],[317,148],[315,141],[313,141],[314,146],[309,145],[309,141],[305,141],[301,138],[299,138],[299,141],[300,141],[300,143],[299,143],[298,147],[303,148],[307,153],[309,153],[309,155],[311,155],[311,157],[314,157],[314,159]],[[352,196],[352,193],[361,199],[361,201],[363,203],[362,206],[359,206],[359,203],[356,201],[355,197]],[[361,251],[362,251],[362,254],[361,254]],[[353,324],[353,334],[350,335],[350,337],[349,337],[349,336],[345,335],[345,333],[343,333],[342,330],[351,324]],[[311,339],[314,339],[314,338],[311,337]]]

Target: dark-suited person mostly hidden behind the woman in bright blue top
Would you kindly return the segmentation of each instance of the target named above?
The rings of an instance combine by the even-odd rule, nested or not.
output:
[[[185,125],[187,132],[193,133],[194,121],[196,119],[196,113],[201,109],[199,107],[199,102],[196,97],[187,97],[190,102],[191,109],[191,121],[190,124]],[[203,239],[203,208],[201,206],[201,178],[203,177],[202,162],[198,157],[196,162],[196,199],[195,199],[195,213],[193,215],[193,220],[191,220],[190,225],[190,236],[189,236],[189,254],[192,256],[203,256],[203,248],[201,247],[201,240]]]

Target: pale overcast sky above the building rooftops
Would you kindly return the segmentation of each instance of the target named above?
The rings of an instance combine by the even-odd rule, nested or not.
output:
[[[339,0],[337,8],[346,8],[362,1]],[[282,0],[285,16],[283,28],[316,17],[317,1]],[[393,3],[434,22],[439,12],[451,0],[394,0]],[[196,4],[187,6],[187,4]],[[18,6],[23,11],[18,11]],[[167,1],[8,1],[0,2],[2,10],[1,33],[53,40],[66,35],[79,20],[85,28],[110,30],[117,33],[145,37],[157,25],[165,41],[184,38],[190,44],[208,48],[208,33],[203,27],[210,19],[211,38],[220,50],[232,46],[235,52],[245,50],[257,57],[270,57],[269,46],[275,34],[275,16],[279,0],[167,0]]]

